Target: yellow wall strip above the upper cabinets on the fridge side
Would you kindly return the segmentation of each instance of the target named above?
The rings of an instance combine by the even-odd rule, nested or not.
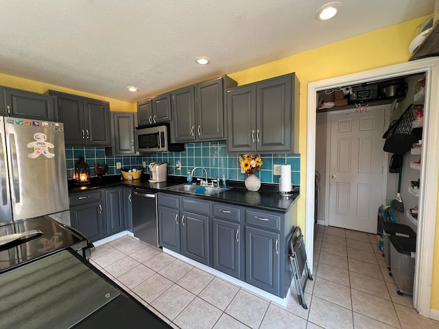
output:
[[[69,94],[80,95],[84,97],[90,97],[94,99],[102,99],[103,101],[109,101],[111,111],[115,111],[115,112],[137,111],[137,106],[135,103],[128,103],[127,101],[119,101],[117,99],[84,93],[82,91],[63,88],[60,86],[54,86],[53,84],[45,84],[44,82],[27,80],[21,77],[13,77],[12,75],[5,75],[2,73],[0,73],[0,86],[23,89],[40,94],[43,94],[47,90],[51,89],[51,90],[61,91],[62,93],[69,93]]]

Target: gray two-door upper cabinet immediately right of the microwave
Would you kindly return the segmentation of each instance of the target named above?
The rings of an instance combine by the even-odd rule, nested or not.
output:
[[[171,92],[173,141],[224,140],[224,90],[236,85],[225,75]]]

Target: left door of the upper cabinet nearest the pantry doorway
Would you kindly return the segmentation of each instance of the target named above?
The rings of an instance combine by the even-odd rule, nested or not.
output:
[[[227,91],[227,150],[254,151],[256,147],[256,87],[254,85]]]

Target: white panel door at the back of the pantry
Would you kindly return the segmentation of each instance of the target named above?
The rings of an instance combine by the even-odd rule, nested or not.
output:
[[[383,202],[384,110],[331,115],[329,225],[377,231]]]

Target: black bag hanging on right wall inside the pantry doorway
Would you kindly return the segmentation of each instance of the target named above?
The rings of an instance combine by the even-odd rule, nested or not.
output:
[[[398,120],[390,123],[383,134],[385,152],[403,155],[412,148],[413,143],[422,138],[422,128],[413,128],[414,119],[414,104],[410,104]]]

